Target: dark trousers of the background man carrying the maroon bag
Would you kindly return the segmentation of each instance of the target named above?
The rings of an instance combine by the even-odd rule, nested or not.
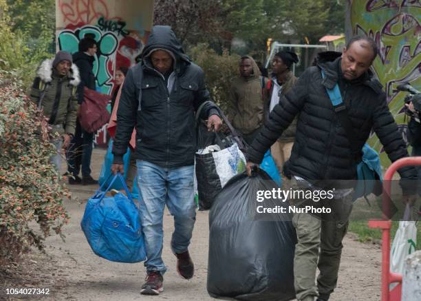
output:
[[[67,170],[70,174],[78,176],[82,165],[82,177],[91,175],[92,144],[94,133],[88,133],[76,121],[76,132],[67,149]]]

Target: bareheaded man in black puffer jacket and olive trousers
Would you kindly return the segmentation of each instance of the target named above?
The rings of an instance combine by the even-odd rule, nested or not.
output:
[[[372,39],[354,37],[334,61],[320,60],[316,66],[305,70],[292,91],[274,107],[248,153],[247,171],[250,174],[252,165],[261,162],[266,150],[298,115],[292,155],[283,168],[290,178],[286,187],[320,187],[318,184],[322,181],[342,185],[336,187],[332,200],[333,204],[342,206],[337,212],[341,214],[339,218],[326,221],[307,213],[295,213],[292,218],[298,238],[294,255],[294,286],[300,301],[328,300],[336,287],[342,240],[352,211],[354,186],[351,183],[355,184],[352,180],[356,179],[356,166],[362,155],[353,149],[362,149],[371,129],[374,129],[392,162],[408,156],[398,126],[387,107],[382,86],[369,70],[376,55],[377,46]],[[321,70],[325,73],[324,79]],[[341,110],[347,112],[355,139],[347,135],[352,132],[345,130],[341,123],[344,119],[338,117],[334,110],[337,107],[327,94],[326,89],[334,87],[341,92]],[[404,201],[408,201],[415,197],[416,187],[406,180],[416,179],[415,168],[403,167],[398,172],[404,180],[401,180],[406,195]],[[317,284],[314,282],[316,268],[320,271]]]

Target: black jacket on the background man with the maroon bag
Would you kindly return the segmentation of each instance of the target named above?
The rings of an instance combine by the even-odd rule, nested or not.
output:
[[[73,63],[78,66],[80,74],[80,84],[78,85],[78,103],[83,102],[83,87],[95,90],[95,75],[92,71],[94,68],[94,56],[90,56],[85,52],[76,52],[73,54]]]

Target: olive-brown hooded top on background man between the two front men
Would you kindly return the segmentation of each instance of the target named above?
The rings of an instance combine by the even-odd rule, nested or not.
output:
[[[231,99],[228,118],[242,134],[250,134],[263,124],[263,79],[257,63],[251,56],[253,73],[248,77],[239,76],[231,84]]]

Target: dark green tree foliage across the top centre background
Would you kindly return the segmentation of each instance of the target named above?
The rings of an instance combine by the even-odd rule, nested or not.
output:
[[[341,0],[156,0],[154,23],[171,25],[184,45],[208,43],[222,53],[233,39],[241,54],[266,52],[266,41],[319,43],[325,34],[345,31]]]

